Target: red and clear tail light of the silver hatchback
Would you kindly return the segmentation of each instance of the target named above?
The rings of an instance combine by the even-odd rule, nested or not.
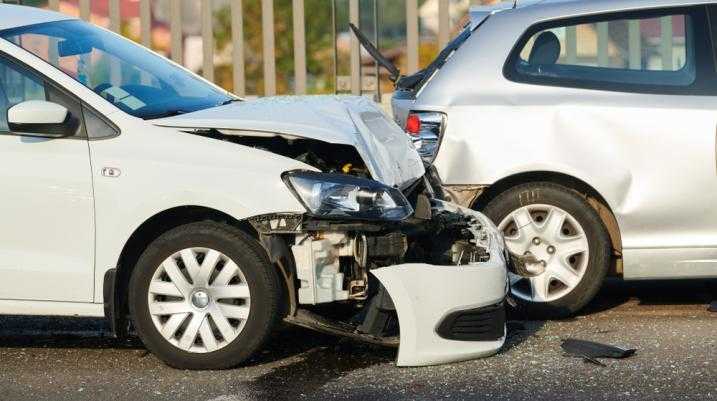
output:
[[[446,115],[443,113],[434,111],[409,113],[405,131],[423,160],[432,162],[436,158],[445,125]]]

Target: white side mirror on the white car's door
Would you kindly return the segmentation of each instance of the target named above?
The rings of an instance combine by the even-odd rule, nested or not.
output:
[[[73,135],[77,129],[73,120],[65,106],[44,100],[28,100],[7,111],[10,131],[46,138]]]

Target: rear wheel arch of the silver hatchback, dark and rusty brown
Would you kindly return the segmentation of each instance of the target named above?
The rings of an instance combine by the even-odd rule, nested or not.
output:
[[[622,234],[615,213],[610,207],[609,202],[602,194],[592,185],[572,175],[558,173],[554,171],[531,171],[514,174],[496,181],[494,184],[485,188],[485,190],[476,198],[471,205],[473,209],[481,210],[493,199],[501,193],[513,188],[517,185],[550,182],[564,186],[577,192],[584,197],[590,206],[600,216],[612,244],[613,266],[610,274],[622,275]]]

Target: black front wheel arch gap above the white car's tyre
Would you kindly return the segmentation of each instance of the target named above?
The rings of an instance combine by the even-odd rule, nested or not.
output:
[[[105,315],[117,336],[127,334],[129,307],[127,293],[134,267],[147,246],[163,233],[189,223],[214,221],[236,227],[259,242],[259,234],[245,220],[237,220],[222,211],[203,206],[173,207],[145,220],[125,242],[117,267],[105,275]],[[263,247],[262,247],[263,249]]]

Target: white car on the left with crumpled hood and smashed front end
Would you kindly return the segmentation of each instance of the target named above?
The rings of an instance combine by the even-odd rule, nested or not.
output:
[[[505,243],[425,172],[363,98],[244,102],[107,30],[0,5],[2,314],[131,322],[188,369],[241,363],[282,318],[400,343],[404,366],[490,355]]]

